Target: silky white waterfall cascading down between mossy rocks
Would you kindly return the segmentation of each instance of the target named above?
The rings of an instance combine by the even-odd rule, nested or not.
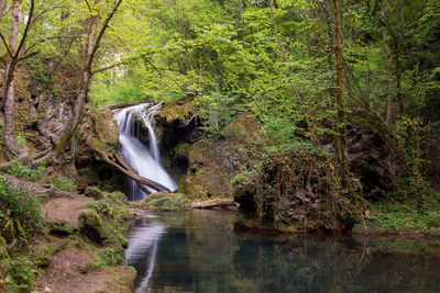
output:
[[[151,103],[133,105],[114,111],[113,117],[117,120],[120,131],[121,154],[133,170],[142,177],[175,191],[177,189],[176,182],[161,165],[161,154],[152,124],[153,117],[161,110],[161,104]],[[138,122],[136,119],[141,122]],[[140,140],[142,134],[140,123],[147,128],[148,147]],[[157,191],[152,188],[147,189],[152,193]],[[141,190],[138,182],[128,179],[127,196],[129,201],[139,201],[145,199],[146,193]]]

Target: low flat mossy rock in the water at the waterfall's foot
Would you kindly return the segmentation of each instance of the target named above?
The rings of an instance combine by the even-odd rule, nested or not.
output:
[[[191,202],[182,193],[166,191],[150,194],[144,201],[132,203],[133,207],[153,211],[182,211],[191,207]]]

